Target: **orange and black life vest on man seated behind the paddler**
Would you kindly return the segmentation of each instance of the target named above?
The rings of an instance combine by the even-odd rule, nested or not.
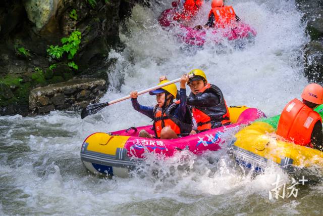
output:
[[[229,124],[231,122],[230,114],[221,90],[216,85],[207,83],[200,91],[200,93],[204,92],[211,92],[215,96],[218,96],[220,98],[220,103],[212,107],[192,107],[192,113],[197,123],[198,131],[203,132],[208,129]],[[190,97],[194,98],[195,95],[191,93]]]

